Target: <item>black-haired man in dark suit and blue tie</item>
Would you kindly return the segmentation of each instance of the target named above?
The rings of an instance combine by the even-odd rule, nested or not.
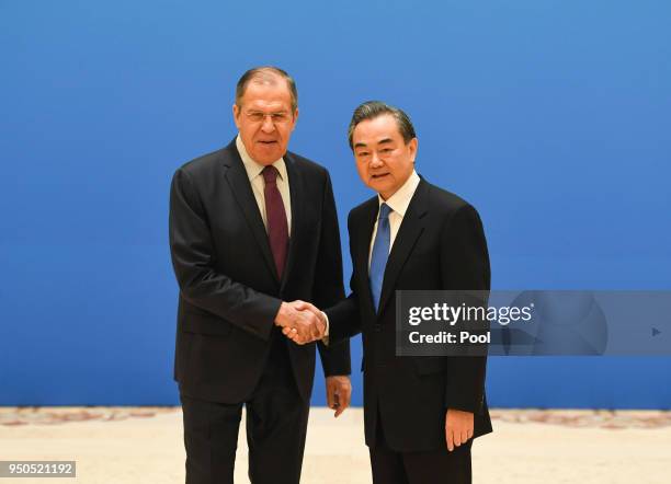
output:
[[[395,291],[488,291],[480,218],[468,203],[418,176],[418,140],[402,111],[364,103],[349,135],[359,175],[377,196],[350,212],[352,293],[326,315],[331,342],[363,335],[373,482],[469,483],[471,438],[491,431],[486,358],[396,356]]]

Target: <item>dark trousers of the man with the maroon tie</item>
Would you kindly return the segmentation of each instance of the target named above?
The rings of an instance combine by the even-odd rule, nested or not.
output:
[[[248,401],[206,402],[180,395],[186,484],[232,484],[242,405],[247,407],[252,484],[298,484],[309,412],[296,388],[284,336],[273,334],[269,360]]]

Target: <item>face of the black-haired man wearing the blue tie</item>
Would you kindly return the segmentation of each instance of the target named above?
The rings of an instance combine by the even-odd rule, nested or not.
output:
[[[412,174],[417,138],[406,143],[390,114],[357,124],[352,143],[359,176],[385,200]]]

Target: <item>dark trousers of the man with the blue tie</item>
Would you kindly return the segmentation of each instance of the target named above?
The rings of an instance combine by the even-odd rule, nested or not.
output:
[[[376,446],[371,451],[373,484],[470,484],[470,445],[452,452],[397,452],[389,448],[378,412]]]

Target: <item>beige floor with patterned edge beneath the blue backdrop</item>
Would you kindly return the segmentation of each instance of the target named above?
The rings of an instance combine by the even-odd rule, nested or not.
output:
[[[496,433],[474,445],[476,483],[671,482],[669,413],[493,414]],[[303,483],[371,482],[362,417],[357,408],[338,419],[312,408]],[[0,460],[76,460],[73,482],[86,484],[177,484],[184,482],[181,433],[177,408],[5,407],[0,408]],[[236,482],[248,482],[246,458],[242,430]]]

